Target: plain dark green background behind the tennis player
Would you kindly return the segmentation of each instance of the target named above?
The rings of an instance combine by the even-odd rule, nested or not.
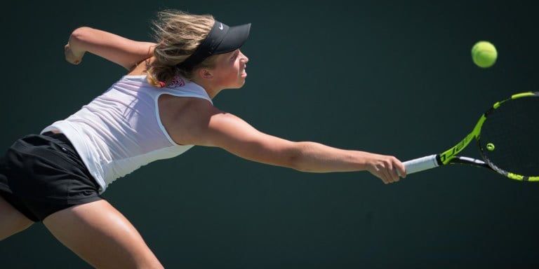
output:
[[[93,55],[65,62],[73,29],[148,41],[161,8],[253,23],[247,83],[214,102],[286,139],[406,160],[452,146],[493,102],[539,85],[539,9],[521,4],[532,1],[45,2],[1,16],[3,149],[124,74]],[[479,40],[498,48],[491,69],[472,64]],[[307,174],[195,147],[105,197],[166,268],[538,268],[538,194],[471,167],[385,186],[368,172]],[[0,268],[88,265],[39,223],[0,242]]]

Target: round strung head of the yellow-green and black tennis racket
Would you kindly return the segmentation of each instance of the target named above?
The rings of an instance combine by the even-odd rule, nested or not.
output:
[[[477,144],[495,172],[519,181],[539,181],[539,92],[524,92],[494,104]]]

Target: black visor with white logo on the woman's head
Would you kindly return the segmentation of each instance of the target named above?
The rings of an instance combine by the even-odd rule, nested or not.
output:
[[[229,27],[215,21],[206,39],[200,43],[191,56],[178,64],[178,68],[189,70],[211,55],[229,53],[240,48],[247,40],[250,29],[251,23]]]

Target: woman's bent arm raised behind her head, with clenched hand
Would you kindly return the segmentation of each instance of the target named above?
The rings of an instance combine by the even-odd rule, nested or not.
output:
[[[133,41],[91,27],[79,27],[72,32],[65,45],[65,60],[80,64],[82,57],[88,52],[130,70],[152,57],[155,45],[151,42]]]

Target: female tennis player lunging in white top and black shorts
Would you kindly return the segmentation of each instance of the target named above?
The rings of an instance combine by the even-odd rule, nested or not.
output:
[[[115,179],[194,145],[303,172],[368,171],[385,184],[405,175],[392,156],[291,142],[213,106],[221,90],[245,83],[248,57],[239,48],[250,27],[168,10],[154,20],[157,43],[75,29],[67,62],[79,64],[88,52],[128,73],[76,113],[18,139],[0,158],[0,240],[42,221],[95,268],[162,268],[100,195]]]

